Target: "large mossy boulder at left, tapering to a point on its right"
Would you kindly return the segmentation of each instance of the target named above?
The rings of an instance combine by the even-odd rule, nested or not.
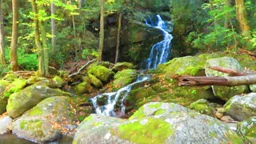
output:
[[[28,86],[24,90],[10,95],[6,110],[10,117],[17,118],[43,99],[54,96],[70,96],[70,94],[47,86]]]

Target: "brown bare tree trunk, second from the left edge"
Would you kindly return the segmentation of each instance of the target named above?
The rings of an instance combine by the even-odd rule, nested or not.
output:
[[[17,42],[18,42],[18,0],[12,0],[13,7],[13,30],[10,43],[10,68],[18,70]]]

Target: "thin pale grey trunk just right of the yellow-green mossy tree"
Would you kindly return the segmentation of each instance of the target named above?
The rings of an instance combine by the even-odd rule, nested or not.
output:
[[[50,13],[52,16],[54,16],[55,14],[55,6],[54,6],[54,2],[52,1],[50,3]],[[52,53],[54,54],[54,52],[56,51],[56,22],[54,18],[51,18],[51,46],[52,46]]]

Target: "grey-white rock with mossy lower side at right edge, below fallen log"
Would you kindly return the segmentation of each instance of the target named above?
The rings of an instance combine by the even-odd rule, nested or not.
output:
[[[226,114],[238,121],[256,115],[256,93],[246,95],[235,95],[224,105]]]

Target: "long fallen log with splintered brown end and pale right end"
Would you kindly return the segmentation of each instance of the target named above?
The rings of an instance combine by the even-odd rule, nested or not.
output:
[[[240,86],[256,84],[256,74],[237,77],[187,77],[178,78],[178,86]]]

